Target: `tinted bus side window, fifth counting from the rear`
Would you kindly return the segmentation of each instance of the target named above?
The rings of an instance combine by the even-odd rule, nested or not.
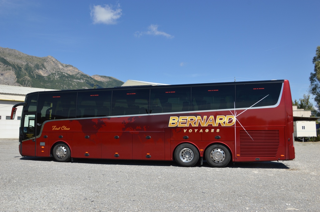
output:
[[[111,91],[78,92],[76,117],[109,116],[111,108]]]

